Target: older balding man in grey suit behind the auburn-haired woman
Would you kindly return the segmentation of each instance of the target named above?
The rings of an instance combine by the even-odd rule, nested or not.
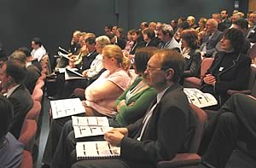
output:
[[[216,51],[216,45],[223,36],[223,32],[218,31],[217,20],[207,20],[206,34],[201,39],[201,55],[203,57],[212,57],[212,54]]]

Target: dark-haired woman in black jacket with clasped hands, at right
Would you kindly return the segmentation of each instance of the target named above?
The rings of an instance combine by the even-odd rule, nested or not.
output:
[[[227,90],[243,90],[247,85],[251,59],[241,53],[244,43],[245,37],[240,30],[226,30],[220,41],[221,51],[215,55],[203,78],[201,90],[211,93],[218,100],[215,109],[230,97]]]

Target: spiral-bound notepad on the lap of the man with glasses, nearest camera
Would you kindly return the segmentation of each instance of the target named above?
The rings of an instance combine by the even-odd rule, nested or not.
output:
[[[107,141],[77,142],[77,159],[115,159],[120,156],[120,148]]]

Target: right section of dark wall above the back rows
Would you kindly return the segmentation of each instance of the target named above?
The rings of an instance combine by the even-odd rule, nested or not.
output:
[[[137,27],[145,21],[160,21],[170,23],[170,20],[179,16],[187,17],[193,14],[196,19],[202,16],[211,17],[221,9],[228,9],[229,14],[234,9],[235,0],[130,0],[129,26]],[[240,0],[239,10],[247,12],[248,1]]]

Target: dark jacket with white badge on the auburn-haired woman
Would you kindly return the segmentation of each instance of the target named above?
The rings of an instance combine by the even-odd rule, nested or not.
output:
[[[197,77],[201,67],[201,52],[199,49],[191,49],[188,55],[189,56],[185,57],[186,66],[183,78]]]

